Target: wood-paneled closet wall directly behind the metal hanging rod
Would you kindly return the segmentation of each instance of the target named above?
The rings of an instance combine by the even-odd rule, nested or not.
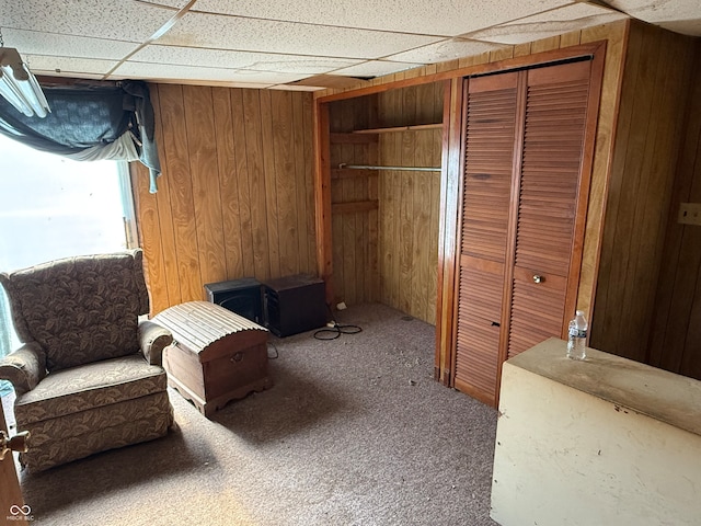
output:
[[[443,83],[380,93],[380,126],[443,121]],[[440,129],[380,134],[379,164],[440,168]],[[436,323],[440,172],[381,171],[379,273],[381,302]]]

